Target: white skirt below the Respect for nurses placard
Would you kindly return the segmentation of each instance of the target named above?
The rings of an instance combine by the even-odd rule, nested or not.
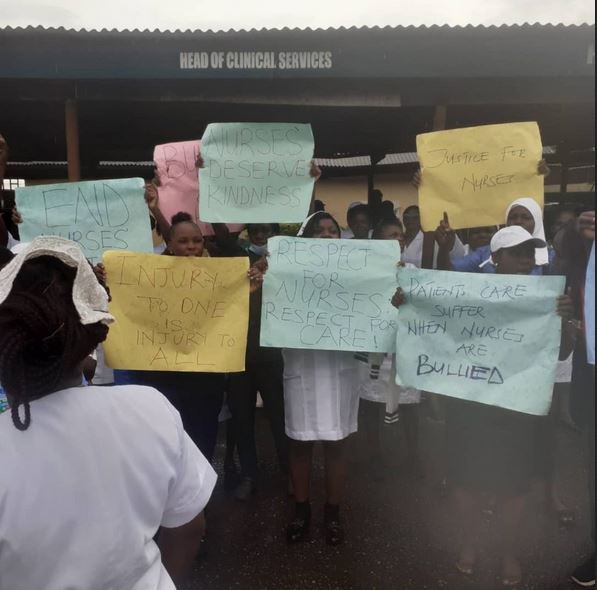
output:
[[[359,392],[352,352],[286,349],[286,434],[294,440],[342,440],[357,431]]]

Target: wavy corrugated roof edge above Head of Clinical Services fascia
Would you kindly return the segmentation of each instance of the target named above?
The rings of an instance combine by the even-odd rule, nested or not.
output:
[[[44,27],[44,26],[27,26],[27,27],[1,27],[2,32],[43,32],[43,33],[80,33],[80,34],[134,34],[134,35],[189,35],[189,34],[255,34],[255,33],[346,33],[346,32],[374,32],[374,31],[495,31],[495,30],[518,30],[518,29],[591,29],[594,28],[594,23],[581,24],[564,24],[564,23],[520,23],[520,24],[501,24],[501,25],[398,25],[398,26],[352,26],[352,27],[281,27],[281,28],[252,28],[252,29],[86,29],[86,28],[66,28],[66,27]]]

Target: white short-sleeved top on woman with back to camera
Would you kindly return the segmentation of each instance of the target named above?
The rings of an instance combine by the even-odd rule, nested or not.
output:
[[[216,474],[157,390],[65,389],[0,414],[0,588],[173,590],[153,537],[190,522]]]

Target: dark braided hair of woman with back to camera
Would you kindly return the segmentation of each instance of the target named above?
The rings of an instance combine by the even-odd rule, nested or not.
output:
[[[39,264],[26,263],[21,272],[35,273]],[[48,268],[43,270],[48,275]],[[0,382],[19,430],[27,430],[31,423],[29,402],[56,391],[108,333],[101,323],[81,324],[72,302],[72,275],[50,272],[44,278],[49,281],[27,291],[19,291],[15,281],[0,305]]]

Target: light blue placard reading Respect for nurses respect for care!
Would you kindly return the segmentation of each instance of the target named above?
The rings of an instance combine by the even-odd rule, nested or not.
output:
[[[393,352],[396,241],[272,238],[261,345]]]

